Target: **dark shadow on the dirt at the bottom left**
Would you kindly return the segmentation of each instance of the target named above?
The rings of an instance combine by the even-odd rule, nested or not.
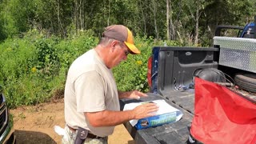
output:
[[[48,134],[37,131],[15,130],[17,144],[57,144]]]

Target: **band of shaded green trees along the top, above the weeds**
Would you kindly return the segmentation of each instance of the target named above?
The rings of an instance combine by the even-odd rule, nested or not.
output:
[[[169,2],[171,38],[188,46],[195,39],[198,39],[199,46],[208,46],[217,25],[244,26],[253,20],[256,12],[254,0]],[[22,37],[24,32],[34,28],[62,38],[67,38],[70,30],[73,34],[79,30],[93,30],[94,36],[98,37],[104,27],[112,24],[126,25],[141,37],[165,40],[166,7],[166,1],[156,0],[2,0],[0,41]],[[198,26],[196,22],[199,22]]]

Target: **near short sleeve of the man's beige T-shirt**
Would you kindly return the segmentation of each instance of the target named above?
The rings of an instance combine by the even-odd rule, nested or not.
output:
[[[86,72],[74,83],[78,112],[106,110],[104,79],[96,71]]]

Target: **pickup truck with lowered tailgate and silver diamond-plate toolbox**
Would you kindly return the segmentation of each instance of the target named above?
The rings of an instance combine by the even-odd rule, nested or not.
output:
[[[241,27],[239,29],[241,30]],[[140,100],[122,100],[121,108],[130,102],[164,99],[171,106],[181,110],[183,116],[178,122],[142,130],[136,130],[130,122],[124,123],[134,142],[137,144],[188,142],[194,117],[193,74],[198,69],[222,70],[234,79],[240,88],[239,94],[256,102],[254,30],[254,23],[245,26],[242,33],[237,34],[238,38],[219,37],[220,32],[217,32],[214,46],[210,48],[154,46],[148,64],[149,96]]]

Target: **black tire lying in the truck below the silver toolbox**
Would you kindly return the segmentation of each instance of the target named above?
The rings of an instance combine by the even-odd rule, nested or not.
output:
[[[242,90],[256,93],[256,74],[235,74],[234,82]]]

